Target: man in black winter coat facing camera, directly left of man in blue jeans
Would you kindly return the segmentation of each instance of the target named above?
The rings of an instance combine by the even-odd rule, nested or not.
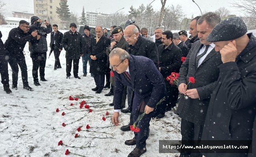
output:
[[[79,59],[84,55],[85,42],[82,35],[77,31],[75,23],[71,23],[69,28],[70,30],[64,33],[62,39],[62,45],[66,50],[66,78],[70,79],[73,61],[73,75],[76,79],[80,79],[78,76]]]

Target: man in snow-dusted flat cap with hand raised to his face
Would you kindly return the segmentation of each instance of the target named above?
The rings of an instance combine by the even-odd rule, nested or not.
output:
[[[256,38],[246,33],[243,20],[232,17],[220,22],[207,37],[209,42],[214,42],[223,62],[219,66],[218,84],[212,93],[203,129],[202,140],[209,140],[209,143],[210,140],[226,140],[230,144],[236,144],[234,140],[256,141]],[[252,150],[255,151],[253,142]],[[207,157],[248,155],[203,154]]]

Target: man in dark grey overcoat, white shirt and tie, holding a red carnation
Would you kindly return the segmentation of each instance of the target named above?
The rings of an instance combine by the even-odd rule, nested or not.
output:
[[[197,31],[200,40],[194,43],[179,71],[178,89],[182,95],[177,112],[181,117],[182,144],[187,140],[201,139],[208,104],[219,76],[218,66],[221,64],[221,55],[214,51],[215,45],[206,38],[219,22],[219,15],[212,12],[199,18]],[[190,77],[196,80],[194,84],[189,83]],[[188,145],[193,144],[197,143],[190,142]],[[180,157],[189,155],[181,152]],[[202,157],[202,154],[194,156]]]

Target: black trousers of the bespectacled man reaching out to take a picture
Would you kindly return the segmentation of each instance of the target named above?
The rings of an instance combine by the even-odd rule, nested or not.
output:
[[[9,65],[13,71],[12,78],[13,78],[13,86],[17,86],[18,84],[18,72],[20,66],[21,71],[21,78],[23,82],[23,86],[28,86],[27,82],[27,64],[25,60],[25,56],[23,53],[19,53],[18,55],[9,55]]]

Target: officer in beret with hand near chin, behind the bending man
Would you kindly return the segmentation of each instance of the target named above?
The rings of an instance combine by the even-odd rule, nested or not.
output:
[[[122,32],[122,28],[121,27],[115,27],[112,32],[112,40],[110,43],[110,46],[108,46],[107,50],[106,50],[106,54],[107,56],[109,56],[110,52],[119,47],[121,49],[126,49],[126,44],[127,42],[125,41],[125,38],[123,36],[123,32]],[[108,68],[108,67],[107,67]],[[111,69],[111,71],[113,72],[113,68],[112,66],[109,67]],[[110,77],[110,82],[111,82],[111,88],[110,88],[110,92],[108,94],[105,94],[105,96],[112,96],[114,95],[114,86],[115,86],[115,77]],[[122,99],[122,106],[121,108],[123,109],[125,107],[125,100],[126,100],[126,94],[127,94],[127,86],[124,86],[124,90],[123,90],[123,99]],[[110,104],[110,106],[114,106],[114,100],[113,102]]]

